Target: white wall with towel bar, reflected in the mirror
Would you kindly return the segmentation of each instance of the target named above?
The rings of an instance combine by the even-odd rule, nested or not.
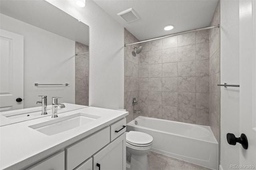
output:
[[[63,97],[60,103],[75,103],[75,42],[25,22],[0,14],[3,30],[24,36],[24,108],[36,107],[38,95]],[[34,83],[67,87],[35,87]]]

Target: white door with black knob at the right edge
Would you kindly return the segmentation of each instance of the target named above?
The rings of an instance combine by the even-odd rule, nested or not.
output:
[[[239,1],[240,38],[240,134],[248,149],[240,147],[240,169],[256,168],[256,3]],[[238,136],[237,136],[238,137]],[[251,166],[242,167],[242,166]],[[252,167],[254,166],[254,168]]]

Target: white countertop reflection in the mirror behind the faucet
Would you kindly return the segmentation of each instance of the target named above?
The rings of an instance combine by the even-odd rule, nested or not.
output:
[[[83,105],[75,105],[75,104],[71,104],[71,103],[62,103],[62,104],[65,105],[65,108],[58,109],[58,114],[88,107],[88,106],[83,106]],[[35,111],[35,110],[38,110],[38,111]],[[11,117],[6,117],[6,116],[15,115],[17,112],[20,112],[20,113],[23,112],[23,114],[20,114],[20,113],[19,114],[24,115],[24,117],[18,117],[16,119],[13,119]],[[24,114],[26,112],[33,112],[33,113]],[[52,105],[47,106],[47,112],[48,112],[48,115],[41,115],[42,106],[0,112],[0,126],[5,126],[5,125],[13,124],[13,123],[18,123],[18,122],[28,121],[31,119],[37,119],[37,118],[41,118],[41,117],[50,116],[50,115],[52,115]],[[30,115],[30,116],[27,117],[26,115]]]

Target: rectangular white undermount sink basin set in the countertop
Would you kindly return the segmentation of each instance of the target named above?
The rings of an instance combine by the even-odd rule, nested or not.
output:
[[[76,113],[74,115],[56,118],[52,121],[31,125],[29,127],[33,128],[34,130],[37,130],[38,132],[42,132],[50,136],[53,134],[64,132],[66,130],[80,127],[98,118],[100,117],[95,115],[89,115],[86,113]]]

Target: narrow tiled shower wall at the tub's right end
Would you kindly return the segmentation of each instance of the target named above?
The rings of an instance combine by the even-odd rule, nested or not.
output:
[[[220,24],[220,1],[210,26]],[[220,143],[220,28],[210,29],[210,127]]]

